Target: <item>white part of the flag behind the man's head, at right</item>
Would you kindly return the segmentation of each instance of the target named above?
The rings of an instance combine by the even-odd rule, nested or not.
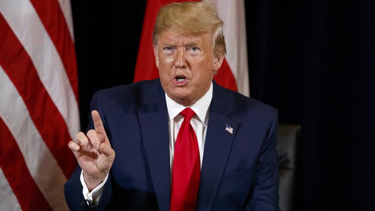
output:
[[[239,93],[250,96],[248,50],[246,42],[245,3],[243,0],[206,0],[214,3],[224,21],[226,59]]]

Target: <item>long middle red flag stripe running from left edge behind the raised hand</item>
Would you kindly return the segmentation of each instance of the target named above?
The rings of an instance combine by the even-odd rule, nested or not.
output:
[[[0,28],[0,64],[20,93],[45,144],[69,178],[76,162],[67,147],[71,138],[66,124],[40,81],[29,55],[1,14]]]

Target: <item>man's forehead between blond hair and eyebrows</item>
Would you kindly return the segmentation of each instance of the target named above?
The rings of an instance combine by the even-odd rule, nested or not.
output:
[[[208,44],[210,43],[211,37],[209,33],[201,33],[201,34],[192,34],[192,33],[184,33],[180,34],[177,32],[172,31],[164,31],[160,34],[159,43],[162,44]]]

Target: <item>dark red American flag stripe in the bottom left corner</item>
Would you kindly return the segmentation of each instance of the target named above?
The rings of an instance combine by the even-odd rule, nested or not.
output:
[[[22,210],[52,210],[31,177],[17,142],[0,118],[0,167]]]

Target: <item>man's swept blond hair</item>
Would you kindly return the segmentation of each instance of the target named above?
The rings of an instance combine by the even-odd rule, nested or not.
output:
[[[212,50],[215,55],[224,56],[227,53],[223,21],[213,3],[180,2],[163,6],[156,16],[152,34],[154,46],[157,45],[160,34],[167,30],[180,34],[212,33]]]

